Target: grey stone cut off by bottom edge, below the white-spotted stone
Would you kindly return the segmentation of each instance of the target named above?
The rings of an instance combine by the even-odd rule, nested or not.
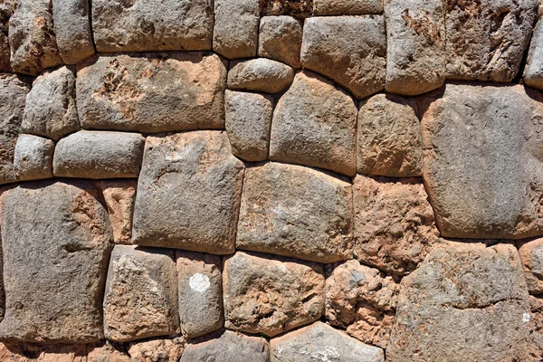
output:
[[[225,330],[219,338],[186,346],[179,362],[269,362],[270,347],[264,338]]]

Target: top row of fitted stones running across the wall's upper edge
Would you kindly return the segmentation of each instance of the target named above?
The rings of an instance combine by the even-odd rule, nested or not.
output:
[[[277,1],[188,3],[98,0],[90,12],[87,0],[8,0],[0,5],[0,71],[37,75],[75,64],[95,52],[94,40],[98,52],[267,57],[327,75],[357,99],[384,89],[415,95],[445,79],[512,81],[538,13],[538,0],[387,0],[384,8],[376,0],[315,0],[314,14],[367,15],[315,16],[302,24],[292,16],[261,19],[262,5]],[[542,39],[539,22],[525,78],[543,89]]]

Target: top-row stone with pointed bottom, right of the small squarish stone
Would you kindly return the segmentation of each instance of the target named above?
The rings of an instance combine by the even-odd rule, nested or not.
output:
[[[363,15],[306,19],[301,65],[337,81],[357,99],[384,90],[385,18]]]

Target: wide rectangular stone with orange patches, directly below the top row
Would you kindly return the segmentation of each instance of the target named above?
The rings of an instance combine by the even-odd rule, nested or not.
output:
[[[84,129],[224,129],[226,67],[205,52],[100,56],[78,65]]]

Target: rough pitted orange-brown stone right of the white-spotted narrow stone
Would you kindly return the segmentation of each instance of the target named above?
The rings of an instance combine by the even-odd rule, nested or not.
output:
[[[223,272],[228,329],[275,336],[319,319],[324,310],[320,264],[236,252]]]

